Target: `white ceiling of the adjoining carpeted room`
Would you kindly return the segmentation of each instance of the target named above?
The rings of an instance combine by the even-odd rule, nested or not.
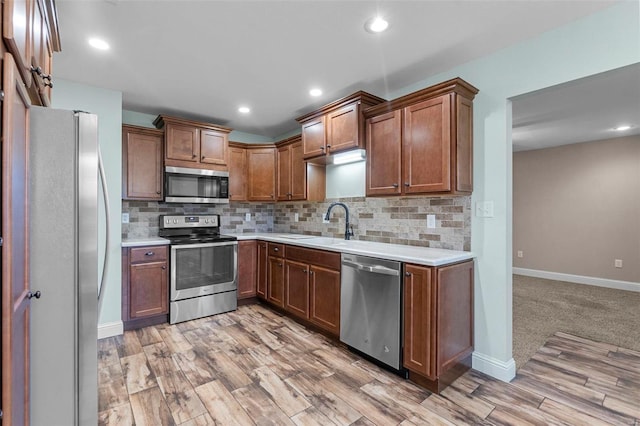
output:
[[[640,64],[512,99],[513,150],[640,134]],[[617,132],[614,128],[629,125]]]

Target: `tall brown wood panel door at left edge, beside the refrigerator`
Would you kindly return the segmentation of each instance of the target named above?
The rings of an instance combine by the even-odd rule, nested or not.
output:
[[[27,425],[32,300],[27,298],[29,98],[11,54],[4,54],[2,66],[2,424]]]

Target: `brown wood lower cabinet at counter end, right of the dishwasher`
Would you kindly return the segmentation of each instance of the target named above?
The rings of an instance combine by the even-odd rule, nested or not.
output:
[[[404,367],[440,392],[470,367],[473,352],[473,261],[405,265]]]

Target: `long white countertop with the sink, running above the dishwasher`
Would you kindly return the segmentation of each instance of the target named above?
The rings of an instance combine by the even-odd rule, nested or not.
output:
[[[340,238],[316,237],[302,234],[256,232],[234,235],[238,240],[264,240],[340,253],[349,253],[381,259],[397,260],[426,266],[442,266],[473,259],[468,251],[445,250],[429,247],[405,246],[401,244],[377,243],[373,241],[344,240]]]

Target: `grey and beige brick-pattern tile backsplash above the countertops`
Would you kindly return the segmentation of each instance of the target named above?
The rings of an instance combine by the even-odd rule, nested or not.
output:
[[[471,249],[471,197],[355,197],[324,202],[231,202],[222,205],[166,204],[122,201],[129,223],[122,224],[122,239],[156,237],[162,214],[219,214],[222,233],[291,232],[342,238],[345,212],[331,211],[329,223],[322,217],[334,201],[349,207],[354,239],[452,250]],[[246,221],[246,213],[251,220]],[[295,214],[298,221],[295,221]],[[427,228],[427,215],[436,227]]]

